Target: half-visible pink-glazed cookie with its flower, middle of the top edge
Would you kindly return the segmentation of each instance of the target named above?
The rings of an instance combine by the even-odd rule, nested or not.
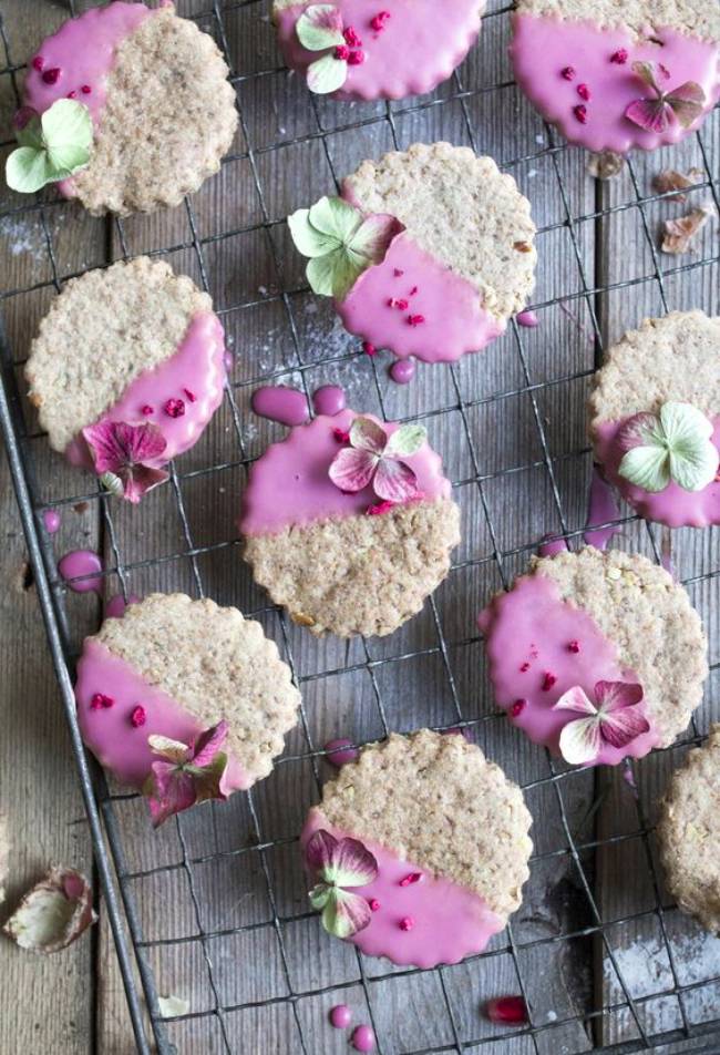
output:
[[[431,92],[480,33],[484,0],[275,0],[282,57],[310,91],[335,99],[404,99]]]

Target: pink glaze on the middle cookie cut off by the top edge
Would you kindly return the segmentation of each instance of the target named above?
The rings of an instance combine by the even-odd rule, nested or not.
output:
[[[286,63],[305,73],[322,52],[307,51],[295,24],[308,3],[297,3],[277,16],[278,41]],[[403,99],[421,95],[445,81],[460,65],[480,32],[482,4],[477,0],[336,0],[342,24],[362,41],[364,61],[348,64],[348,76],[335,99]],[[371,19],[380,11],[390,18],[376,31]]]

